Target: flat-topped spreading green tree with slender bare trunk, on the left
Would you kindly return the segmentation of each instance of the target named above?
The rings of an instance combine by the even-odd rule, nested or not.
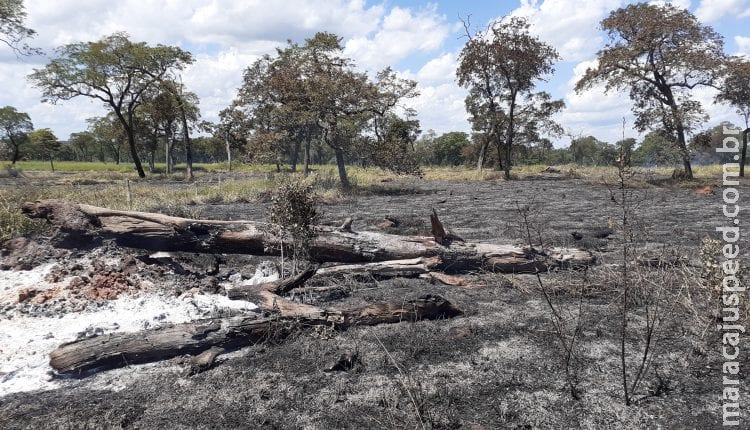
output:
[[[128,140],[138,176],[145,177],[135,139],[136,110],[147,91],[173,70],[192,63],[177,47],[134,43],[126,33],[96,42],[73,43],[57,49],[57,58],[29,75],[42,89],[43,100],[55,103],[83,96],[99,100],[114,112]]]

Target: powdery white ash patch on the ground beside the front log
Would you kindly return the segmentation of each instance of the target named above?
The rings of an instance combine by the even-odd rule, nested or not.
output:
[[[0,303],[17,300],[18,292],[24,288],[51,287],[44,278],[54,265],[45,264],[29,271],[0,271]],[[92,304],[78,312],[19,312],[23,305],[1,306],[5,308],[0,313],[0,397],[58,387],[61,381],[53,378],[49,353],[62,343],[258,310],[253,303],[229,300],[219,294],[175,297],[143,292]]]

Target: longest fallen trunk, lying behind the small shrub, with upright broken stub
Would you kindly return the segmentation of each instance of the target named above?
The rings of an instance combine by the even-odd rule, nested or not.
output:
[[[59,200],[25,203],[30,218],[46,219],[60,230],[114,239],[124,246],[158,251],[277,255],[281,241],[272,224],[252,221],[195,220],[162,214],[116,211]],[[502,272],[534,272],[559,266],[586,266],[593,255],[572,248],[531,249],[514,245],[446,240],[442,223],[436,237],[399,236],[350,228],[317,227],[310,255],[318,262],[365,263],[438,257],[437,269],[485,268]],[[442,242],[442,244],[440,243]]]

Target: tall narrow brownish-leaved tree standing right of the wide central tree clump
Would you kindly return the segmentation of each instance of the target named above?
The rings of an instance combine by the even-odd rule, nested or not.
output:
[[[534,92],[537,81],[554,71],[559,55],[529,33],[525,18],[501,19],[486,34],[468,36],[456,71],[458,83],[469,89],[466,107],[474,130],[486,134],[485,142],[495,143],[498,161],[510,178],[514,145],[534,140],[539,130],[561,129],[551,116],[562,110],[562,100]],[[486,146],[478,168],[484,152]]]

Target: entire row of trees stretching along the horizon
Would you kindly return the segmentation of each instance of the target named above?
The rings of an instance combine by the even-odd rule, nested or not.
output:
[[[14,14],[0,18],[4,20],[0,41],[16,52],[32,55],[38,50],[19,43],[35,32],[23,26],[23,3],[14,5]],[[198,97],[180,81],[180,72],[194,61],[192,55],[177,47],[132,42],[126,33],[61,46],[29,80],[42,90],[44,101],[76,97],[101,101],[110,114],[92,120],[88,130],[72,134],[69,145],[73,149],[68,155],[105,160],[106,152],[115,162],[132,162],[141,177],[145,177],[141,158],[145,157],[153,172],[158,155],[167,172],[172,171],[175,158],[184,159],[186,178],[192,179],[192,134],[201,131],[209,137],[202,136],[200,143],[210,141],[213,148],[201,148],[202,155],[211,152],[218,159],[223,153],[230,168],[233,152],[242,161],[276,164],[278,169],[288,163],[296,171],[301,165],[305,174],[313,159],[334,161],[343,186],[349,183],[347,163],[420,174],[419,165],[426,161],[443,163],[445,159],[456,165],[461,164],[457,160],[465,163],[471,158],[478,169],[492,160],[493,167],[508,178],[512,166],[531,154],[543,160],[546,156],[539,154],[555,153],[549,138],[565,133],[555,121],[564,109],[563,101],[535,89],[554,73],[560,57],[530,33],[525,18],[500,18],[483,30],[464,24],[467,42],[456,78],[468,91],[471,145],[456,135],[446,137],[436,148],[450,148],[451,155],[441,153],[436,158],[425,155],[424,142],[420,147],[417,113],[405,103],[418,95],[417,83],[399,77],[391,68],[374,76],[359,71],[352,59],[343,56],[342,38],[326,32],[301,44],[290,41],[274,55],[248,66],[236,98],[216,124],[200,120]],[[708,120],[693,97],[695,88],[718,89],[715,102],[737,109],[747,135],[750,62],[726,55],[722,36],[710,26],[701,24],[688,10],[647,3],[614,10],[601,26],[607,42],[575,90],[628,92],[635,129],[650,132],[642,145],[664,147],[655,159],[678,154],[685,176],[692,178],[691,161],[700,146],[693,141],[705,141],[706,132],[700,127]],[[0,109],[0,138],[9,147],[11,164],[21,157],[21,147],[28,145],[32,132],[27,114],[12,106]],[[602,154],[609,149],[589,137],[593,140],[571,142],[574,162],[588,162],[583,154],[591,148],[598,148],[602,160],[607,159]],[[458,145],[460,157],[456,155],[458,141],[463,142]],[[174,154],[178,146],[183,151],[180,157]],[[490,149],[495,156],[488,156]],[[50,147],[47,153],[59,151]],[[745,153],[746,140],[742,173]]]

